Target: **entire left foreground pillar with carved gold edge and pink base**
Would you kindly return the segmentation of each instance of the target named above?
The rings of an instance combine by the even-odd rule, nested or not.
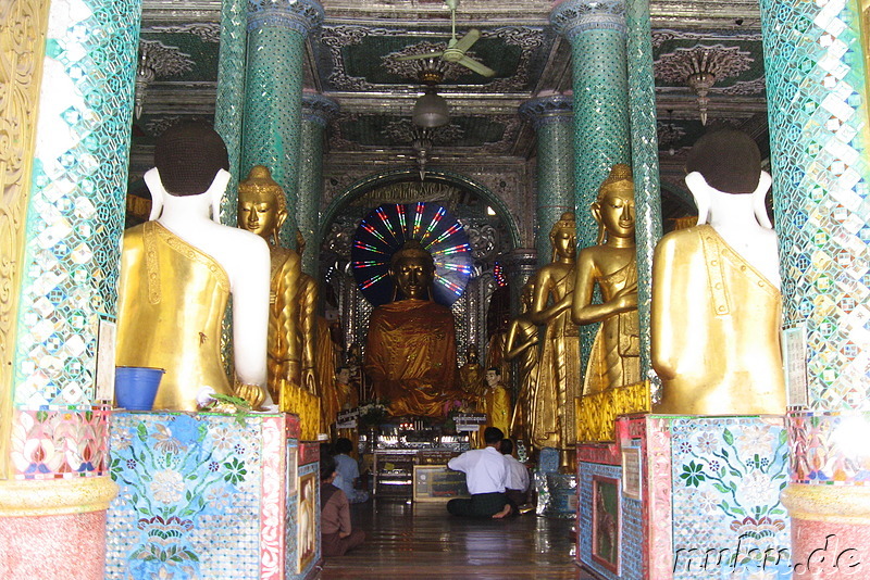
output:
[[[102,578],[117,487],[98,333],[115,317],[141,5],[0,12],[0,577]]]

